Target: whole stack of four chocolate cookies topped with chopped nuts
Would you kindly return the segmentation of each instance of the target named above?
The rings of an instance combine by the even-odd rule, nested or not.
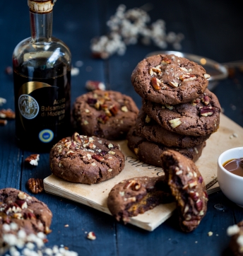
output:
[[[127,139],[141,161],[161,166],[167,149],[194,162],[201,156],[220,122],[220,103],[207,89],[209,77],[202,66],[174,54],[138,63],[131,82],[143,105]]]

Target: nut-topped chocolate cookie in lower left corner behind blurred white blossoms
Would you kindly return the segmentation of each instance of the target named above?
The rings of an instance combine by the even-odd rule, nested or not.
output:
[[[51,223],[52,212],[43,202],[11,187],[0,190],[0,247],[4,231],[48,234]]]

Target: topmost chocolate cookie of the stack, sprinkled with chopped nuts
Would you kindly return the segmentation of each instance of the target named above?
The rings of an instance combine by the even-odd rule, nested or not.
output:
[[[209,77],[202,66],[189,59],[160,54],[139,62],[131,83],[142,98],[175,105],[198,98],[206,90]]]

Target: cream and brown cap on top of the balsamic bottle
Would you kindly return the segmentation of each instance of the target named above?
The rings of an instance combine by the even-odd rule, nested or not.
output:
[[[28,6],[33,13],[49,13],[57,0],[28,0]]]

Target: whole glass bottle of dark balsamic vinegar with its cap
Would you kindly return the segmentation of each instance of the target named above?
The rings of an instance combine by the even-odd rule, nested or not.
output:
[[[13,51],[16,139],[31,151],[70,136],[71,52],[52,37],[55,1],[28,0],[31,37]]]

